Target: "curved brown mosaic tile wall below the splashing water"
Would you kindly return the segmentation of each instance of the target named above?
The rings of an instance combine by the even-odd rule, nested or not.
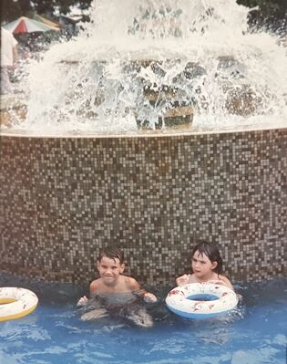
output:
[[[190,270],[198,239],[233,281],[284,276],[287,129],[136,138],[1,137],[0,269],[86,284],[120,246],[144,284]]]

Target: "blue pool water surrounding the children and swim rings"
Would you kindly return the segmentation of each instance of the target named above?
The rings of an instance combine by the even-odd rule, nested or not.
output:
[[[29,282],[0,273],[0,286],[32,289],[32,314],[0,322],[1,364],[285,364],[287,279],[236,285],[243,300],[226,317],[188,320],[164,305],[170,287],[156,292],[153,328],[123,321],[83,322],[75,303],[85,288]]]

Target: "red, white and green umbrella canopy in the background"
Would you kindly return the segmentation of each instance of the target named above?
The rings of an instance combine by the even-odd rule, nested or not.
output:
[[[30,19],[26,16],[21,16],[13,22],[6,24],[5,29],[14,34],[19,33],[33,33],[33,32],[46,32],[47,30],[59,30],[58,26],[51,26],[38,22],[34,19]]]

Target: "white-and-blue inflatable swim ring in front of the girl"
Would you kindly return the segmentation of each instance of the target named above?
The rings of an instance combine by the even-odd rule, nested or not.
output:
[[[227,286],[190,283],[171,289],[166,304],[181,317],[207,318],[219,316],[236,307],[238,297]]]

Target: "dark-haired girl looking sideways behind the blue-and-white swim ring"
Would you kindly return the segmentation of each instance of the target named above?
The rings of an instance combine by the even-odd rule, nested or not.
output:
[[[176,279],[178,286],[188,283],[217,283],[233,289],[231,281],[226,276],[221,276],[222,259],[216,245],[201,242],[197,244],[191,254],[192,275],[179,276]]]

